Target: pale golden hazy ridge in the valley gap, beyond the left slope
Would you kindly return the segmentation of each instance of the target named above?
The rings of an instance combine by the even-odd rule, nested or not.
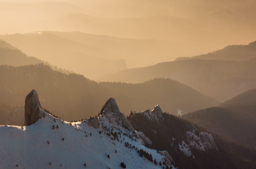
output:
[[[83,32],[49,32],[51,34],[100,48],[112,55],[98,55],[105,59],[124,59],[129,68],[154,65],[158,62],[174,60],[178,55],[191,55],[193,46],[176,41],[155,39],[118,38],[108,35],[95,35]],[[150,59],[149,59],[150,58]]]

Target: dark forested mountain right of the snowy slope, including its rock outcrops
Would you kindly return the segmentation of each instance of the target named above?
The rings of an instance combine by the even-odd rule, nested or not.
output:
[[[151,140],[150,148],[167,150],[177,168],[256,166],[255,148],[235,143],[199,124],[162,113],[159,106],[152,111],[131,112],[127,119],[136,131],[143,132]]]

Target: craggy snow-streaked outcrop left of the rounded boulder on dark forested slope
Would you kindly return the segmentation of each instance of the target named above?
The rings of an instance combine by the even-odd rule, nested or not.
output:
[[[201,142],[201,140],[192,132],[186,132],[187,142],[190,148],[195,148],[200,151],[205,151],[205,148]]]

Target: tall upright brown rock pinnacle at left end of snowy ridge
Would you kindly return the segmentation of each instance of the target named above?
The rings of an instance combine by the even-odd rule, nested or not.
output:
[[[37,91],[34,89],[26,96],[24,125],[31,125],[37,122],[41,108]]]

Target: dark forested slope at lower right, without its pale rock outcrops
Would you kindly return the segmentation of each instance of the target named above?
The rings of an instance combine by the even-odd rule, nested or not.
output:
[[[178,168],[255,168],[256,150],[237,144],[219,134],[191,124],[182,118],[163,113],[163,121],[151,120],[147,115],[135,113],[128,117],[136,131],[142,131],[153,142],[150,148],[167,150]],[[186,142],[186,132],[211,133],[217,149],[199,151],[191,149],[193,156],[187,157],[178,149],[182,140]],[[174,139],[176,138],[176,139]],[[186,162],[184,162],[186,161]],[[216,162],[217,161],[217,162]]]

